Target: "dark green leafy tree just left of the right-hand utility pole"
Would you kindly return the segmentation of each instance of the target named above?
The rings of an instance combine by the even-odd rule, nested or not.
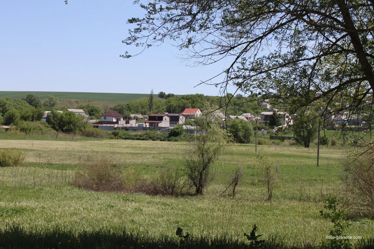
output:
[[[318,116],[312,109],[306,109],[298,112],[294,119],[294,139],[306,148],[317,136]]]

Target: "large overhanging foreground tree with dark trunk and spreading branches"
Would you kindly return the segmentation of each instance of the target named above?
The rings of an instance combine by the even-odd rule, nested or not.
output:
[[[123,43],[146,49],[169,42],[183,59],[203,65],[224,59],[229,66],[217,72],[224,80],[203,81],[223,92],[233,84],[245,93],[274,93],[293,108],[322,99],[322,113],[342,98],[355,112],[373,97],[373,0],[135,3],[146,13],[128,20],[137,26]]]

